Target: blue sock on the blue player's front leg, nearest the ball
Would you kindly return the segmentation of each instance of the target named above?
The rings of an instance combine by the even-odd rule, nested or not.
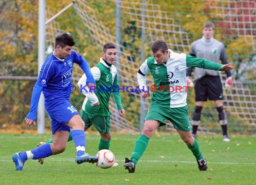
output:
[[[77,156],[83,155],[85,153],[85,134],[83,130],[72,130],[72,139],[75,143],[75,148],[77,151]]]

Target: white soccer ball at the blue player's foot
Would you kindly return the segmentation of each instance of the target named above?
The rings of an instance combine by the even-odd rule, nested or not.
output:
[[[97,153],[98,162],[96,166],[101,168],[112,167],[115,163],[115,155],[110,150],[100,150]]]

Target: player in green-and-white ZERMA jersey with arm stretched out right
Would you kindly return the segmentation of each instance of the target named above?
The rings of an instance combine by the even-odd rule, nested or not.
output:
[[[135,165],[146,150],[150,137],[156,128],[166,125],[165,120],[170,120],[179,133],[181,139],[194,154],[199,170],[207,170],[207,160],[203,158],[199,144],[191,135],[188,114],[186,69],[195,66],[211,70],[231,70],[230,64],[216,64],[202,58],[192,57],[185,53],[170,51],[163,40],[157,40],[151,47],[153,57],[142,63],[137,72],[137,79],[141,96],[146,98],[149,91],[146,85],[146,75],[151,72],[154,85],[151,86],[151,103],[140,137],[135,142],[131,160],[125,159],[124,168],[135,172]]]

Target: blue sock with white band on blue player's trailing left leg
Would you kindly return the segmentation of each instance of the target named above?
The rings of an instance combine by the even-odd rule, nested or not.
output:
[[[20,152],[19,156],[22,159],[22,161],[26,161],[27,159],[40,159],[40,158],[46,158],[52,155],[53,152],[51,150],[51,146],[49,143],[46,143],[44,145],[41,145],[38,148],[26,151],[26,152]]]

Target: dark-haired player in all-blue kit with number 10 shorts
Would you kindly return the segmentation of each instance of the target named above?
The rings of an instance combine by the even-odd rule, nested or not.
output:
[[[71,91],[69,88],[73,63],[77,63],[84,71],[87,76],[88,88],[95,86],[95,80],[88,63],[79,53],[72,50],[74,45],[74,38],[67,33],[56,37],[54,51],[45,60],[33,88],[31,108],[25,118],[28,126],[35,125],[36,110],[40,94],[43,92],[45,109],[52,122],[53,143],[13,154],[13,162],[17,170],[22,170],[28,159],[40,159],[62,153],[66,149],[70,128],[77,150],[75,162],[78,164],[95,163],[98,160],[97,157],[85,154],[84,121],[70,103]]]

